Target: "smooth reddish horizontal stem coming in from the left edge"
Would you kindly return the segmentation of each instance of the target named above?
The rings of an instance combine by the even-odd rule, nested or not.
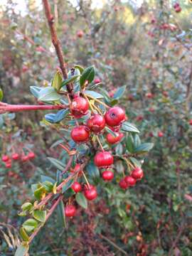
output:
[[[65,105],[9,105],[0,102],[0,114],[6,112],[20,112],[28,110],[61,110],[65,109]]]

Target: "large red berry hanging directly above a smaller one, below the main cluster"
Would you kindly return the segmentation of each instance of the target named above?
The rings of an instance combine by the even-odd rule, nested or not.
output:
[[[107,168],[113,164],[113,156],[108,151],[98,152],[95,155],[94,163],[97,167]]]

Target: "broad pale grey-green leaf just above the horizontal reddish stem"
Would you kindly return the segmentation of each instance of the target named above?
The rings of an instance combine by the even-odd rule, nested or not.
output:
[[[61,95],[56,92],[55,88],[53,87],[46,87],[41,89],[40,92],[38,92],[38,100],[43,102],[52,102],[56,100],[60,100]]]

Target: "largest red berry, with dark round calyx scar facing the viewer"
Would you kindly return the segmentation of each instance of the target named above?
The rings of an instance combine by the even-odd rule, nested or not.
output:
[[[105,113],[105,122],[110,127],[119,126],[122,122],[124,122],[124,119],[125,113],[121,107],[111,107],[110,110]]]

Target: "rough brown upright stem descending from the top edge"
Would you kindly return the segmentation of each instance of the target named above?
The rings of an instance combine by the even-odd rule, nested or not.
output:
[[[62,51],[62,48],[60,46],[60,41],[58,39],[56,30],[55,30],[55,26],[54,26],[54,16],[53,16],[53,14],[51,14],[50,4],[49,4],[48,0],[43,0],[43,6],[44,6],[44,9],[46,11],[46,18],[48,20],[48,26],[50,28],[51,40],[52,40],[53,46],[55,47],[55,51],[58,55],[58,60],[59,60],[59,63],[60,63],[60,69],[63,73],[63,78],[67,79],[68,78],[67,65],[64,61],[63,51]],[[70,96],[72,96],[73,95],[73,85],[68,84],[68,85],[66,85],[66,87],[67,87],[68,93],[70,94]]]

